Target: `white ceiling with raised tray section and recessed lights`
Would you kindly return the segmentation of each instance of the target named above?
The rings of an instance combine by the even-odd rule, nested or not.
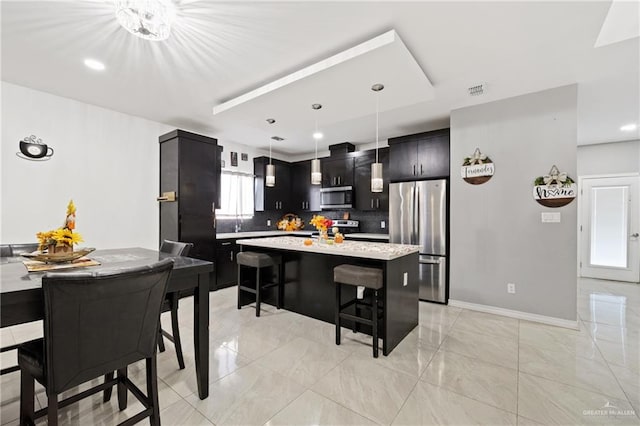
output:
[[[330,101],[319,118],[325,135],[319,149],[375,141],[369,87],[376,78],[388,80],[379,81],[386,86],[379,94],[382,140],[447,127],[456,108],[578,83],[578,144],[640,139],[638,130],[620,131],[640,125],[638,38],[594,47],[610,5],[183,0],[176,2],[171,37],[150,42],[117,24],[112,2],[3,1],[2,79],[223,142],[267,148],[277,134],[286,139],[273,149],[285,155],[313,151],[310,106],[323,98]],[[362,59],[370,62],[362,68],[361,97],[353,94],[360,84],[355,62],[347,61],[348,71],[329,70],[328,83],[309,79],[273,91],[268,102],[259,96],[245,110],[213,114],[214,107],[389,30],[408,57]],[[86,68],[88,57],[106,70]],[[411,66],[400,63],[407,58],[433,85],[429,96],[402,87],[413,78],[405,75]],[[479,83],[486,93],[470,97],[467,88]],[[277,123],[269,126],[266,118]]]

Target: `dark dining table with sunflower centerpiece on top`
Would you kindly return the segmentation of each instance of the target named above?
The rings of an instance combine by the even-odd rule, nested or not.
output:
[[[198,396],[209,396],[209,282],[213,263],[190,257],[172,256],[144,248],[96,250],[88,255],[100,263],[85,268],[60,269],[49,273],[87,271],[117,272],[150,265],[163,259],[174,260],[167,292],[181,295],[193,292],[193,341]],[[38,321],[44,318],[44,272],[27,272],[24,258],[0,258],[0,328]]]

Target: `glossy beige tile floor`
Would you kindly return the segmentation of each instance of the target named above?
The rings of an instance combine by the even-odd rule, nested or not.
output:
[[[188,367],[178,370],[170,343],[159,354],[163,424],[640,424],[639,285],[581,280],[578,331],[421,303],[420,325],[379,359],[369,337],[345,330],[336,346],[331,324],[265,308],[256,318],[235,309],[235,289],[211,294],[211,396],[201,401],[192,305],[181,302]],[[32,339],[41,327],[2,329],[0,340]],[[140,366],[132,370],[144,384]],[[39,408],[42,388],[37,398]],[[3,376],[2,424],[18,423],[18,403],[18,373]],[[96,396],[61,416],[63,424],[114,424],[139,409],[119,412],[115,398]]]

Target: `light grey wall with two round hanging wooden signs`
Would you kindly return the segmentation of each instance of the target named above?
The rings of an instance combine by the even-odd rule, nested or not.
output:
[[[550,209],[532,197],[554,164],[577,181],[576,104],[573,85],[452,112],[451,299],[576,320],[577,202]],[[458,172],[476,147],[495,163],[483,185]],[[561,223],[541,223],[546,211]]]

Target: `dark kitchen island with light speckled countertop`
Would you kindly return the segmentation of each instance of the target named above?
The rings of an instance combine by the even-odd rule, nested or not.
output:
[[[382,269],[385,313],[379,336],[384,339],[383,353],[388,355],[418,325],[418,246],[363,241],[327,244],[317,239],[305,245],[304,241],[305,238],[287,236],[236,243],[243,251],[281,255],[285,284],[283,307],[329,323],[334,323],[333,268],[353,264]],[[355,297],[355,287],[342,287],[342,300]],[[252,301],[249,296],[242,295],[243,304]],[[275,305],[275,289],[265,294],[264,301]],[[345,320],[343,326],[349,328],[352,324]],[[358,325],[358,331],[371,334],[371,328],[364,325]]]

